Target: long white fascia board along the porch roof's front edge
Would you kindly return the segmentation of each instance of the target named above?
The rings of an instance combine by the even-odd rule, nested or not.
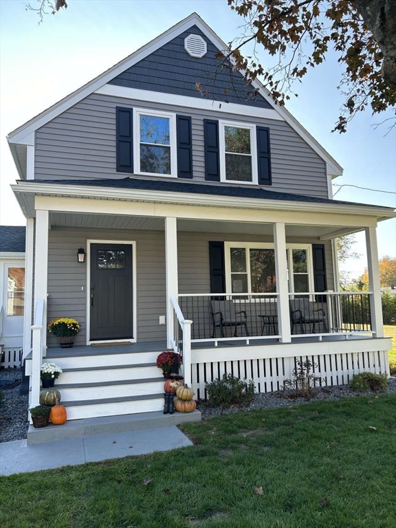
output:
[[[216,206],[245,209],[265,209],[283,211],[330,212],[333,214],[360,214],[370,217],[394,218],[396,210],[373,206],[351,206],[339,203],[305,201],[281,201],[258,198],[224,197],[217,195],[192,194],[190,192],[164,192],[122,188],[99,188],[60,184],[36,184],[22,181],[11,186],[17,194],[46,195],[59,197],[93,198],[123,201],[151,201],[155,203],[175,203],[192,206]]]

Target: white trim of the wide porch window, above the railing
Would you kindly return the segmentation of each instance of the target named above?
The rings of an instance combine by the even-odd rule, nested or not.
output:
[[[231,248],[244,248],[246,250],[274,250],[275,245],[271,242],[225,242],[224,243],[224,252],[225,252],[225,293],[232,295],[232,285],[231,285]],[[294,294],[294,273],[293,273],[293,256],[292,251],[289,250],[307,250],[307,270],[308,270],[308,283],[309,283],[309,292],[314,292],[314,260],[312,256],[312,245],[311,244],[286,244],[287,250],[287,259],[289,265],[289,283],[290,283],[290,293]],[[248,286],[251,289],[250,285],[250,259],[247,259],[247,272],[248,272]],[[250,294],[252,292],[243,292]],[[302,292],[304,293],[304,292]],[[308,292],[307,292],[308,293]]]

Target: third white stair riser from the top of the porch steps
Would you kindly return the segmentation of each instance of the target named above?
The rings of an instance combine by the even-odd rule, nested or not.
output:
[[[157,369],[158,370],[158,369]],[[142,380],[116,380],[113,382],[94,382],[85,384],[56,384],[61,391],[62,401],[97,401],[98,399],[164,394],[162,377],[143,378]]]

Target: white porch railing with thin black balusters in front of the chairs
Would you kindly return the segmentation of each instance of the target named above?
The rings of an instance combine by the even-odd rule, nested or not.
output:
[[[289,294],[292,340],[298,337],[373,335],[371,292]],[[179,294],[180,318],[194,322],[191,342],[281,340],[278,294]],[[243,343],[241,343],[243,344]]]

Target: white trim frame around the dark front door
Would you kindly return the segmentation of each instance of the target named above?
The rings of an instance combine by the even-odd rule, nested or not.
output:
[[[133,337],[132,338],[125,338],[125,339],[111,339],[111,340],[95,340],[91,341],[90,333],[91,333],[91,309],[90,309],[90,288],[91,288],[91,244],[123,244],[123,245],[131,245],[132,246],[132,288],[133,288],[133,299],[132,299],[132,311],[133,311]],[[85,329],[85,337],[87,345],[94,344],[94,343],[115,343],[115,342],[124,342],[129,341],[131,343],[137,342],[137,269],[136,269],[136,242],[135,241],[127,241],[127,240],[102,240],[102,239],[87,239],[87,283],[85,285],[85,288],[87,290],[87,303],[86,303],[86,309],[87,314],[85,317],[86,320],[86,329]]]

